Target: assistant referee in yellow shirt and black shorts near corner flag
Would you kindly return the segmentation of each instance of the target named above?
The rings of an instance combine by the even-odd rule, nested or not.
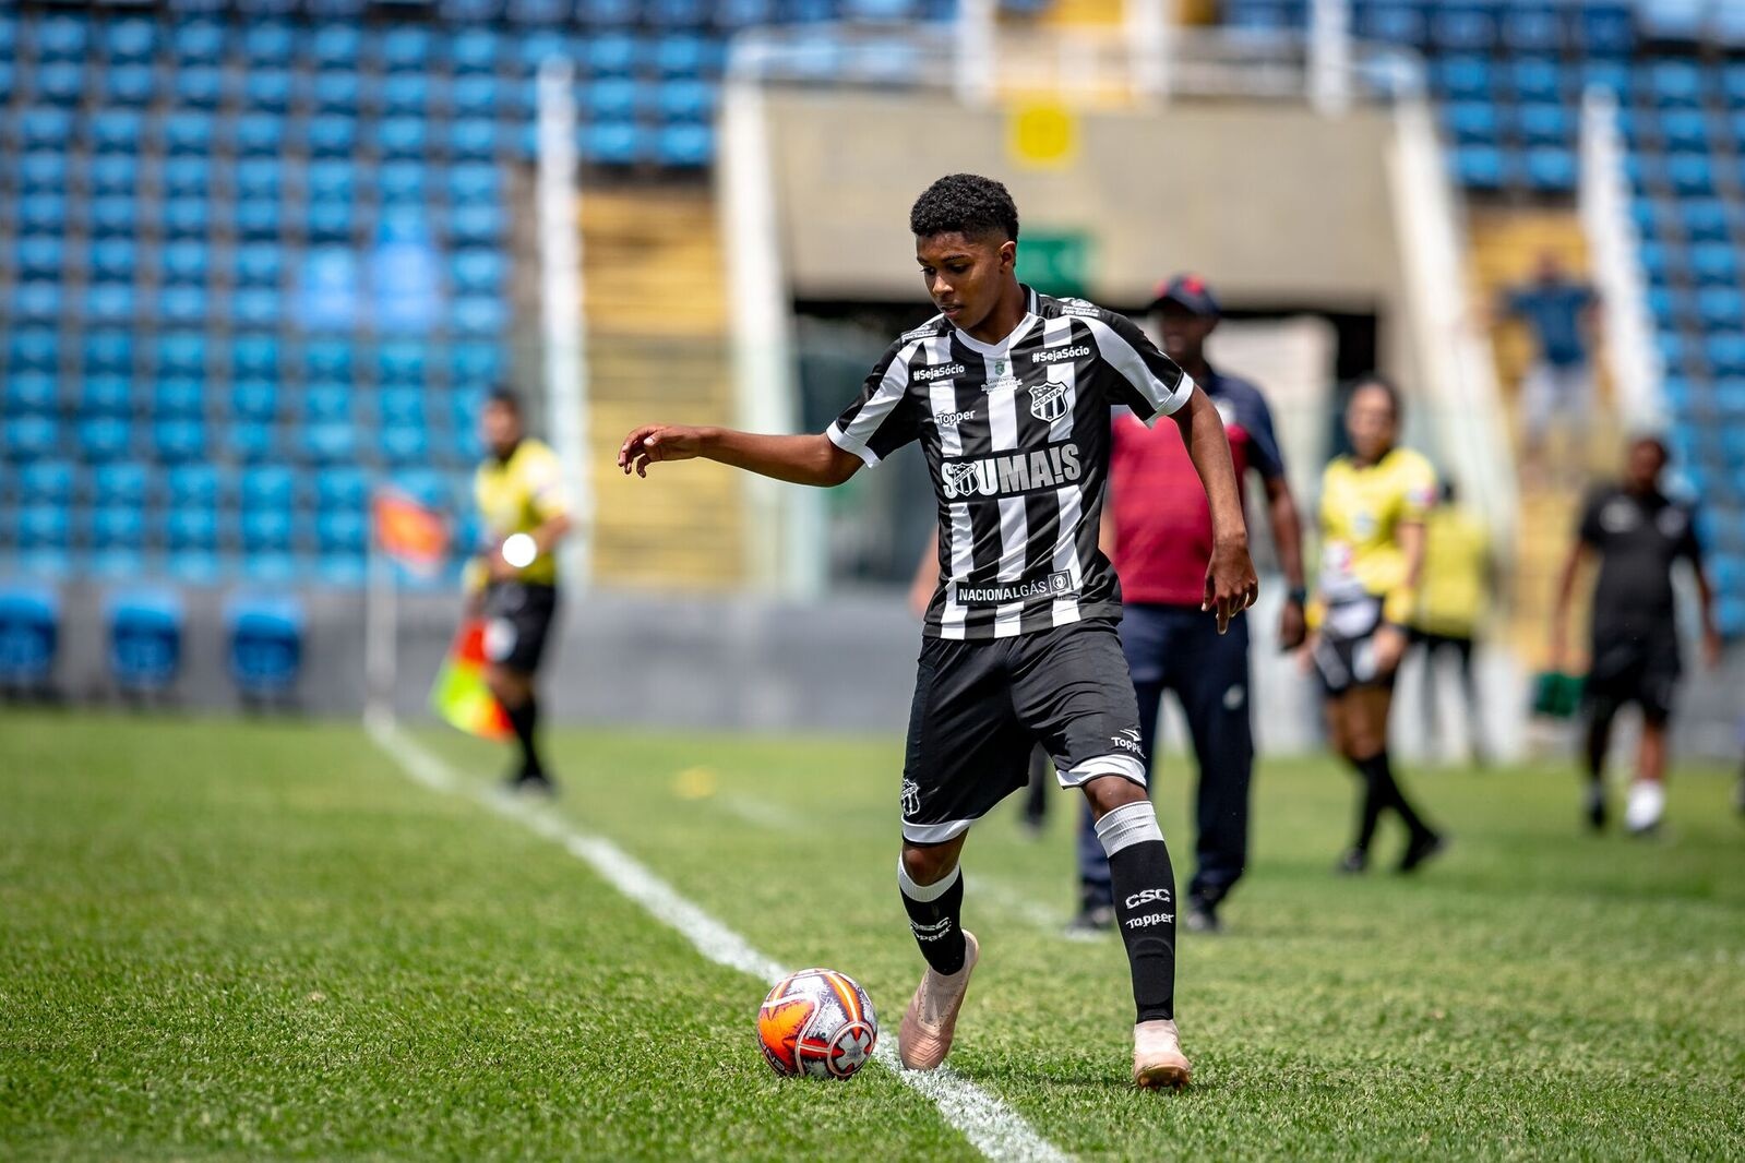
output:
[[[480,429],[487,455],[473,476],[473,497],[489,541],[468,563],[468,607],[485,617],[485,682],[522,752],[506,783],[551,795],[557,785],[536,741],[534,677],[557,614],[555,549],[569,532],[569,500],[557,453],[527,436],[513,392],[497,389],[485,399]]]

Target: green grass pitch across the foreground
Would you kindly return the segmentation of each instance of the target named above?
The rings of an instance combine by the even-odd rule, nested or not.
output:
[[[480,781],[506,762],[419,738]],[[857,976],[893,1037],[921,964],[899,743],[558,731],[551,811]],[[1230,931],[1180,938],[1183,1095],[1126,1085],[1119,940],[1059,936],[1077,804],[1040,842],[1002,809],[965,853],[984,961],[951,1062],[1082,1158],[1738,1160],[1729,774],[1677,772],[1642,842],[1579,832],[1567,771],[1408,771],[1454,847],[1349,881],[1349,776],[1262,762]],[[354,725],[0,717],[0,1158],[974,1158],[879,1067],[777,1079],[763,992]]]

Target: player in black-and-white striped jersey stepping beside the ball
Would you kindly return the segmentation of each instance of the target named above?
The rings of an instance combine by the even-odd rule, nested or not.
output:
[[[1145,750],[1115,624],[1120,588],[1098,551],[1110,408],[1174,418],[1206,493],[1202,596],[1220,629],[1258,591],[1218,410],[1122,316],[1017,281],[1005,187],[949,174],[909,211],[939,314],[897,337],[817,436],[653,424],[619,448],[625,473],[708,457],[801,485],[841,485],[918,439],[939,502],[939,584],[927,612],[902,778],[897,882],[927,961],[899,1029],[911,1071],[951,1050],[975,969],[958,854],[970,825],[1024,786],[1031,741],[1080,788],[1115,884],[1133,994],[1133,1078],[1181,1086],[1174,1024],[1174,875],[1145,797]]]

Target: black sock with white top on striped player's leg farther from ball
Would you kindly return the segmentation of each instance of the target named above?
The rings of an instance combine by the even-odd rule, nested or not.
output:
[[[1176,1017],[1176,874],[1150,800],[1124,804],[1096,825],[1115,889],[1139,1022]]]

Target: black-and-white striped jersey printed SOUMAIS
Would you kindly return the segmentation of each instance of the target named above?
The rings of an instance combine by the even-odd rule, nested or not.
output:
[[[1023,323],[982,343],[935,316],[890,345],[829,427],[867,464],[920,439],[939,500],[927,633],[1009,638],[1119,617],[1098,549],[1110,408],[1155,422],[1194,380],[1124,316],[1024,288]]]

